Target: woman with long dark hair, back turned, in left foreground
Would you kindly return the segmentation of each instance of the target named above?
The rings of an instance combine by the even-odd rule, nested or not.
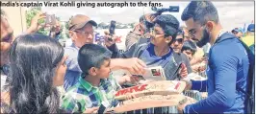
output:
[[[49,36],[17,37],[10,50],[10,101],[4,113],[61,113],[56,86],[64,83],[64,48]]]

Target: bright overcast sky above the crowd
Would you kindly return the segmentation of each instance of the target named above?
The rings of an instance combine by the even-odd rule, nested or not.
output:
[[[135,1],[134,1],[135,2]],[[137,2],[135,2],[137,3]],[[174,16],[181,22],[181,13],[189,2],[161,2],[163,8],[168,6],[179,6],[179,12],[172,12]],[[230,31],[236,27],[243,27],[243,24],[251,23],[254,20],[254,2],[253,1],[241,1],[241,2],[213,2],[218,9],[218,16],[220,23],[224,30]],[[139,22],[139,18],[143,13],[152,12],[149,7],[125,7],[125,8],[53,8],[44,7],[42,11],[48,13],[54,13],[61,17],[61,20],[68,20],[71,15],[86,14],[90,18],[99,22],[110,22],[115,20],[121,23]],[[165,12],[166,13],[166,12]]]

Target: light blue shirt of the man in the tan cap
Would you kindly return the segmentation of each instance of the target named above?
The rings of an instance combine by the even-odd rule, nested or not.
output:
[[[66,72],[64,76],[64,90],[66,91],[69,87],[76,84],[79,77],[82,74],[82,70],[80,69],[77,61],[79,48],[72,43],[71,46],[64,48],[64,55],[67,55],[66,63]]]

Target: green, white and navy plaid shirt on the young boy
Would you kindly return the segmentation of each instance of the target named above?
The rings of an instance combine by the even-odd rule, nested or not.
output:
[[[62,97],[61,108],[67,112],[84,112],[86,108],[104,106],[109,108],[117,104],[114,99],[115,92],[121,89],[115,78],[100,80],[99,86],[92,86],[90,82],[79,78],[78,82],[72,86]]]

